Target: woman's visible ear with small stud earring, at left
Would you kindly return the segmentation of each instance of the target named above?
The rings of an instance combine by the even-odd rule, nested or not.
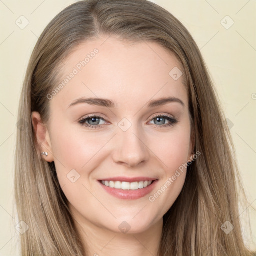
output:
[[[52,154],[52,147],[50,142],[50,136],[47,126],[42,122],[41,116],[38,112],[33,111],[31,113],[31,120],[33,124],[34,134],[36,137],[37,144],[39,145],[40,154],[44,151],[48,155],[41,155],[46,161],[54,161]]]

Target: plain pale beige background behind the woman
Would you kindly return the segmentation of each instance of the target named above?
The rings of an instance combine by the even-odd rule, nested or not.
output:
[[[57,13],[73,2],[0,0],[0,256],[17,255],[17,231],[12,224],[13,156],[17,103],[25,69],[44,27]],[[215,81],[226,118],[233,124],[230,130],[236,146],[242,182],[251,203],[248,208],[240,209],[244,222],[244,237],[248,246],[256,249],[256,2],[153,2],[170,11],[194,37]],[[20,29],[15,23],[16,20],[20,20],[21,15],[29,21],[24,29]],[[226,17],[227,15],[229,17]],[[232,22],[234,24],[229,27]],[[252,239],[249,238],[246,228],[248,216],[252,226]]]

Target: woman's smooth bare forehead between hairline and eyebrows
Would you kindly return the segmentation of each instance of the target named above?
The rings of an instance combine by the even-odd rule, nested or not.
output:
[[[166,95],[182,98],[187,105],[182,75],[173,78],[182,67],[172,52],[156,42],[128,43],[112,36],[84,41],[62,63],[56,86],[64,86],[54,101],[66,106],[78,97],[93,96],[135,107]]]

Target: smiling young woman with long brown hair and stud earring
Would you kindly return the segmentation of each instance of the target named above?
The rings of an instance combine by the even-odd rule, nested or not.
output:
[[[32,53],[19,119],[22,255],[252,255],[212,82],[158,5],[61,11]]]

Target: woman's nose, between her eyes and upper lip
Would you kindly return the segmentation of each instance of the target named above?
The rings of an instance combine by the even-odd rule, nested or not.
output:
[[[145,136],[135,125],[128,130],[118,130],[115,136],[113,160],[127,167],[135,167],[149,159]]]

